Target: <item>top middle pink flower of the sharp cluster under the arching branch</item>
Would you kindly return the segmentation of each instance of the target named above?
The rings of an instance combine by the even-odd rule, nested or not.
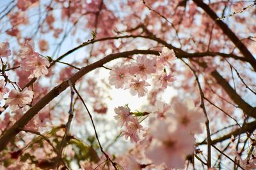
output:
[[[148,74],[156,73],[156,60],[147,59],[147,57],[137,57],[137,63],[132,63],[129,67],[131,74],[136,74],[138,78],[145,80]]]

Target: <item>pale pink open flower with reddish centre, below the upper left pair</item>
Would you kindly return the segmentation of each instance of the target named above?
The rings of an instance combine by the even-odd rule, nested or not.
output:
[[[26,106],[26,104],[31,103],[33,94],[33,91],[28,90],[28,87],[26,87],[22,92],[13,89],[9,94],[9,98],[6,100],[6,104],[9,104],[11,110],[15,111],[19,109],[19,107],[23,107]]]

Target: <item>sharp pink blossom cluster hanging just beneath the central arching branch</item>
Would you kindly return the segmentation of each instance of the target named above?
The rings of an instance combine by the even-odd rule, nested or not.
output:
[[[149,59],[147,56],[138,56],[136,62],[115,66],[110,71],[109,84],[115,85],[116,89],[130,89],[133,96],[143,97],[147,94],[146,81],[150,76],[154,76],[155,82],[164,90],[172,82],[172,73],[166,73],[166,67],[171,67],[175,59],[173,50],[164,47],[159,57]]]

